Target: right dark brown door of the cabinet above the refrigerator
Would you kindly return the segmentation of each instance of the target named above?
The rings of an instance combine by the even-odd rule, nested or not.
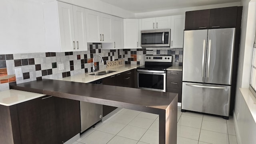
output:
[[[237,6],[210,10],[210,28],[235,28]]]

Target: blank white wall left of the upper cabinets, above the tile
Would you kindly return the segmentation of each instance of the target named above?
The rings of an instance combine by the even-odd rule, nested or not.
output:
[[[1,0],[0,54],[45,52],[40,0]]]

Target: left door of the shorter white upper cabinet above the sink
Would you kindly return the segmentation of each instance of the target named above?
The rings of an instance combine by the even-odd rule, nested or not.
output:
[[[86,9],[86,32],[88,42],[102,42],[100,23],[101,13]]]

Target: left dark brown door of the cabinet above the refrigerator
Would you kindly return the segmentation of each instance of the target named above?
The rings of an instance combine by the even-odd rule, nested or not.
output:
[[[186,12],[185,30],[208,29],[210,10],[196,10]]]

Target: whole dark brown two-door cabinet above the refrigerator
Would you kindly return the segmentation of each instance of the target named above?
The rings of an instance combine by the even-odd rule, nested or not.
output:
[[[239,9],[233,6],[186,12],[185,30],[235,28]]]

